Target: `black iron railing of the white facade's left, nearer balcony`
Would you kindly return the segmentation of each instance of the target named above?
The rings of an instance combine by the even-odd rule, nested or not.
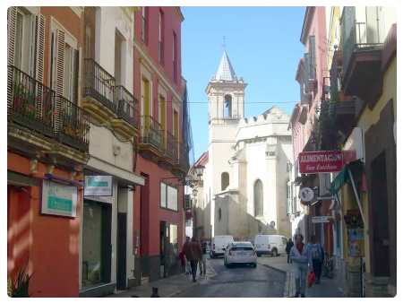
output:
[[[94,59],[84,59],[84,97],[90,96],[99,100],[105,107],[116,113],[115,85],[115,78],[107,73]]]

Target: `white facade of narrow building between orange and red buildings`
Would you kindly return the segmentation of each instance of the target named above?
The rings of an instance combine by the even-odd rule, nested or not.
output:
[[[97,7],[95,25],[95,61],[116,79],[116,85],[123,85],[133,93],[133,11],[124,7]],[[118,37],[118,39],[116,39]],[[116,46],[119,41],[119,47]],[[116,54],[116,51],[119,54]],[[119,58],[119,59],[116,59]],[[116,66],[116,62],[120,62]],[[86,175],[113,176],[111,197],[84,197],[97,203],[112,206],[111,219],[111,275],[110,283],[117,280],[117,214],[126,214],[126,286],[134,279],[133,255],[133,187],[144,185],[143,177],[133,173],[133,137],[123,140],[116,136],[107,124],[90,125],[90,160],[85,167]],[[81,212],[83,210],[81,209]],[[81,213],[82,215],[82,213]],[[81,221],[80,289],[82,275],[83,221]]]

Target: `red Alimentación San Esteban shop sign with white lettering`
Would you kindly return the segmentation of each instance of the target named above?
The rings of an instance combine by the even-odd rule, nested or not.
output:
[[[299,172],[317,174],[340,171],[343,167],[343,154],[340,151],[301,152]]]

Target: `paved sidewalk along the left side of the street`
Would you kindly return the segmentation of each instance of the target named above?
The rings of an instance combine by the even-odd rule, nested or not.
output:
[[[140,298],[150,298],[152,288],[157,287],[159,289],[159,297],[169,298],[174,297],[184,290],[189,290],[196,285],[205,284],[208,280],[216,275],[214,269],[207,264],[207,273],[205,277],[197,275],[197,281],[192,281],[192,275],[186,275],[184,273],[176,274],[158,281],[153,281],[144,285],[133,287],[129,290],[119,291],[115,294],[107,296],[107,298],[131,298],[133,296]]]

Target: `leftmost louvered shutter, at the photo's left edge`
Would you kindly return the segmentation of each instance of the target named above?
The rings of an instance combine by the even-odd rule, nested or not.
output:
[[[15,31],[17,26],[17,8],[7,10],[7,65],[14,65]],[[7,109],[13,106],[13,67],[7,67]],[[8,112],[8,110],[7,110]]]

